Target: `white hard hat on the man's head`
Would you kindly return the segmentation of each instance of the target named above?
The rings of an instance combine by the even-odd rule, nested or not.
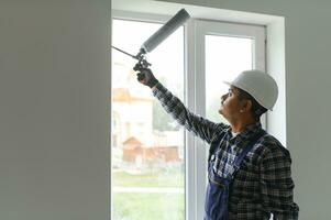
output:
[[[250,94],[261,106],[273,110],[278,97],[275,79],[261,70],[242,72],[233,81],[224,81]]]

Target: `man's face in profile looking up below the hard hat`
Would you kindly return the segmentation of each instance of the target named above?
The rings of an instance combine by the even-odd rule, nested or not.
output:
[[[231,86],[228,94],[221,96],[221,107],[219,113],[225,119],[232,120],[240,113],[241,100],[238,88]]]

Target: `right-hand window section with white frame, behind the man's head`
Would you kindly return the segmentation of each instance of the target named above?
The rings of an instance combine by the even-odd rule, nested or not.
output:
[[[187,54],[191,63],[187,64],[187,68],[188,73],[194,73],[188,75],[189,106],[200,116],[227,123],[218,114],[220,97],[228,89],[222,81],[235,77],[245,68],[264,70],[265,30],[257,25],[206,20],[196,20],[188,29],[190,29],[188,41],[191,46],[188,47]],[[188,213],[197,210],[196,215],[188,219],[203,219],[208,146],[196,139],[188,141],[189,145],[195,145],[195,152],[188,157],[194,161],[195,167],[187,170],[187,175],[196,172],[196,176],[192,177],[195,183],[190,186],[188,182],[188,187],[194,188],[190,193],[196,194],[191,199],[196,201],[188,201],[191,207],[188,206],[187,209]],[[201,178],[202,176],[206,178]]]

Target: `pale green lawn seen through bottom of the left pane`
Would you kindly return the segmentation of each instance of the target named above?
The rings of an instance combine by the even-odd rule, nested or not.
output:
[[[114,187],[156,187],[184,188],[184,174],[176,170],[168,173],[148,173],[142,175],[114,172]],[[184,220],[185,194],[167,193],[113,193],[114,220]]]

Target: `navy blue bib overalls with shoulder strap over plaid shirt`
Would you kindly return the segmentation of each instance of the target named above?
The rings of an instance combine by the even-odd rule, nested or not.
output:
[[[220,177],[213,169],[214,152],[209,153],[208,160],[208,187],[205,201],[205,220],[228,220],[229,191],[233,174],[240,168],[240,164],[246,154],[253,148],[257,140],[264,134],[264,131],[256,134],[250,144],[238,155],[233,162],[233,173],[227,178]]]

